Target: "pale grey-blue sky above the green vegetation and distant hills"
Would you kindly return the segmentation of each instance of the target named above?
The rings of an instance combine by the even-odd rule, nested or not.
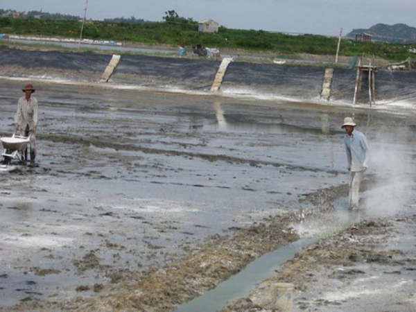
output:
[[[135,17],[163,21],[165,12],[195,21],[214,19],[236,29],[343,35],[375,24],[416,27],[416,0],[0,0],[0,8],[42,10],[103,20]]]

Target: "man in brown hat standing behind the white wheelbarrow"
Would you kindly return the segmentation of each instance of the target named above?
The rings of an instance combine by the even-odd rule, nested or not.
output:
[[[24,96],[19,98],[17,102],[17,111],[15,115],[15,128],[19,130],[20,123],[20,135],[24,137],[31,136],[31,166],[35,166],[36,158],[36,129],[37,129],[37,100],[32,96],[35,93],[33,85],[28,83],[21,89],[24,92]],[[27,155],[27,153],[26,153]]]

